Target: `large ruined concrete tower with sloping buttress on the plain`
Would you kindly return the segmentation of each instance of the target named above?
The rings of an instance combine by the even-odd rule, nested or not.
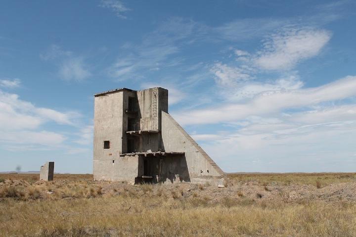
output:
[[[94,180],[223,184],[224,173],[168,114],[168,90],[94,95]]]

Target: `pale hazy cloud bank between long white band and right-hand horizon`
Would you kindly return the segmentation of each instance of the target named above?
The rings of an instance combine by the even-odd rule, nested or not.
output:
[[[347,172],[356,165],[350,149],[356,146],[355,108],[329,105],[290,116],[250,116],[228,135],[203,134],[200,141],[224,171]]]

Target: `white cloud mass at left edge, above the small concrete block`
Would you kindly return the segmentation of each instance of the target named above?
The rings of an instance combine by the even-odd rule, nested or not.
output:
[[[37,107],[16,94],[0,91],[1,147],[7,150],[48,150],[63,147],[67,137],[46,131],[48,122],[77,126],[81,115],[75,111],[59,112]],[[84,136],[82,134],[82,136]]]

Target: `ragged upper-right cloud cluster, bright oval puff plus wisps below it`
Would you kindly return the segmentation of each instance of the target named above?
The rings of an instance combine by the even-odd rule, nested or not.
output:
[[[229,101],[252,98],[260,93],[299,89],[303,82],[295,67],[318,55],[330,37],[330,32],[321,29],[286,27],[267,35],[262,48],[255,52],[231,48],[234,52],[232,60],[216,62],[210,72],[221,90],[228,92],[225,99]],[[274,80],[259,80],[261,74],[269,71],[280,72],[282,76]]]

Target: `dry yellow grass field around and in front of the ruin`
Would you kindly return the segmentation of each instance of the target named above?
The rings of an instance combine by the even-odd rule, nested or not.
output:
[[[356,236],[356,173],[227,176],[217,188],[0,174],[0,236]]]

